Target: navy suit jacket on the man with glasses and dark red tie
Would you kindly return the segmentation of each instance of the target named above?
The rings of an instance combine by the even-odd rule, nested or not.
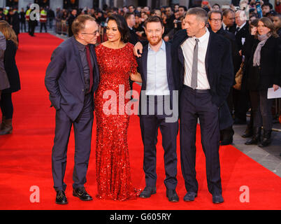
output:
[[[99,66],[94,45],[90,45],[90,52],[94,58],[93,92],[95,92],[99,85]],[[74,36],[64,41],[52,53],[46,71],[45,86],[50,92],[52,106],[57,110],[63,109],[71,120],[76,120],[84,106],[85,80]]]

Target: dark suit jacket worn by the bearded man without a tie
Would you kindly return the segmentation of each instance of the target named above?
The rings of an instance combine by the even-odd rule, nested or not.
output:
[[[173,90],[178,90],[175,87],[175,81],[173,76],[173,68],[172,68],[172,59],[171,59],[171,43],[165,42],[166,44],[166,70],[167,70],[167,80],[168,80],[168,89],[170,90],[170,109],[173,108]],[[141,90],[146,90],[147,85],[147,55],[148,55],[148,44],[143,47],[143,54],[141,57],[138,57],[138,69],[141,73],[141,78],[143,80],[143,83],[141,85]],[[174,102],[175,104],[175,102]],[[178,107],[178,102],[175,104]],[[140,106],[139,106],[141,112],[141,96],[140,96]]]

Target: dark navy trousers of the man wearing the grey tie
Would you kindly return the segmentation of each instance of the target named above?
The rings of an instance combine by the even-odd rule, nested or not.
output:
[[[180,160],[185,188],[197,193],[196,127],[201,126],[201,144],[206,156],[208,190],[212,195],[222,194],[219,165],[219,110],[212,103],[208,90],[196,91],[185,86],[180,96]]]

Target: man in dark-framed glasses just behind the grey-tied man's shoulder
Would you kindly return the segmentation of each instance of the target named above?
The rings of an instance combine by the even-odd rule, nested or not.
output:
[[[240,69],[240,55],[238,52],[238,47],[237,47],[237,43],[236,43],[236,38],[235,35],[232,34],[229,31],[226,31],[223,29],[222,27],[222,12],[220,11],[210,11],[210,13],[208,14],[208,18],[209,18],[209,25],[210,25],[210,29],[219,34],[224,36],[224,38],[227,38],[230,43],[231,43],[231,55],[232,55],[232,62],[233,62],[233,73],[236,74],[237,71]],[[233,85],[235,84],[235,77],[233,76]],[[229,112],[232,114],[232,110],[233,110],[233,87],[231,87],[231,90],[229,92],[229,97],[227,97],[227,103],[229,105]],[[233,142],[233,128],[232,126],[227,127],[225,130],[222,130],[220,132],[221,135],[221,145],[222,146],[226,146],[229,144],[232,144]]]

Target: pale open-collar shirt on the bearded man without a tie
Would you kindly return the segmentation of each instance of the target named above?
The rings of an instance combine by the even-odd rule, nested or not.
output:
[[[169,95],[168,77],[166,66],[166,44],[162,45],[157,52],[148,45],[147,54],[147,83],[146,95],[164,96]]]

